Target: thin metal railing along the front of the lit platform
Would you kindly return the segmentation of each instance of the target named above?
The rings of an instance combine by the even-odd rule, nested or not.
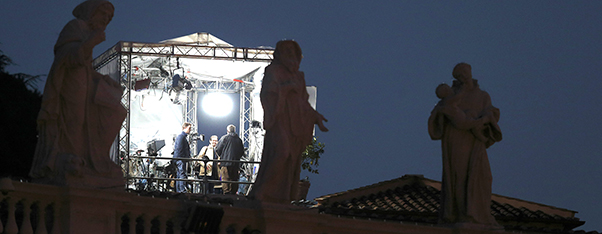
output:
[[[226,180],[215,180],[215,179],[210,179],[209,176],[207,176],[207,165],[209,162],[213,162],[213,166],[215,166],[217,163],[220,162],[234,162],[234,163],[239,163],[239,164],[261,164],[261,162],[258,161],[240,161],[240,160],[217,160],[217,159],[198,159],[198,158],[171,158],[171,157],[156,157],[156,156],[135,156],[135,155],[131,155],[130,156],[130,161],[132,161],[132,159],[134,159],[134,161],[138,162],[138,163],[144,163],[144,159],[148,159],[148,160],[169,160],[170,162],[168,164],[173,164],[171,166],[169,166],[168,164],[166,164],[163,169],[161,170],[151,170],[150,167],[150,163],[148,163],[148,165],[141,165],[139,167],[145,168],[146,166],[146,171],[144,171],[144,169],[142,170],[142,173],[140,173],[138,171],[138,173],[136,174],[142,174],[142,175],[131,175],[132,173],[128,173],[126,175],[126,186],[128,186],[128,188],[130,189],[134,189],[134,190],[145,190],[145,191],[160,191],[160,192],[169,192],[169,191],[175,191],[175,185],[172,188],[172,186],[170,185],[171,182],[173,181],[174,184],[176,181],[185,181],[187,182],[187,184],[191,185],[190,190],[188,190],[189,193],[200,193],[200,194],[204,194],[207,195],[208,194],[208,185],[209,184],[221,184],[221,183],[231,183],[231,184],[249,184],[252,185],[254,182],[251,181],[226,181]],[[136,159],[140,159],[140,161],[137,161]],[[184,161],[184,162],[202,162],[202,165],[204,167],[203,170],[203,174],[202,175],[194,175],[194,173],[191,173],[191,165],[190,163],[187,163],[186,166],[186,174],[187,174],[187,179],[179,179],[177,178],[176,175],[176,165],[175,165],[175,161]],[[130,165],[130,167],[132,167],[132,165]],[[167,167],[173,167],[171,169],[167,169]],[[169,171],[172,170],[172,171]],[[154,173],[153,173],[154,172]],[[161,173],[158,173],[161,172]],[[194,177],[197,177],[196,179]],[[192,177],[192,178],[191,178]],[[133,186],[133,187],[131,187]],[[144,186],[144,188],[141,188],[141,186]],[[220,185],[217,185],[218,188],[220,188]],[[188,186],[187,186],[188,188]],[[237,189],[238,190],[238,189]]]

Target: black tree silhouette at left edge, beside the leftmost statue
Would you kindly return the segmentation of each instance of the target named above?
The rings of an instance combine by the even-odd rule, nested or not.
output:
[[[0,176],[28,178],[37,143],[40,76],[6,71],[12,60],[0,50]],[[28,88],[29,87],[29,88]]]

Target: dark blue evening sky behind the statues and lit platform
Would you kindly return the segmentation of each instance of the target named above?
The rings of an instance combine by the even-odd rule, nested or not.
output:
[[[79,1],[2,1],[0,49],[46,74]],[[458,62],[501,110],[493,192],[578,211],[602,231],[602,1],[119,1],[95,55],[118,41],[209,32],[239,47],[301,45],[329,119],[309,197],[404,174],[441,177],[427,119]]]

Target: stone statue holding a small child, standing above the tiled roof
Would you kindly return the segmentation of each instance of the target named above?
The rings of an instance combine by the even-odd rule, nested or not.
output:
[[[491,215],[491,169],[486,149],[502,140],[500,111],[472,79],[471,66],[454,67],[450,88],[440,85],[442,100],[428,120],[433,140],[441,140],[443,178],[439,223],[500,229]]]

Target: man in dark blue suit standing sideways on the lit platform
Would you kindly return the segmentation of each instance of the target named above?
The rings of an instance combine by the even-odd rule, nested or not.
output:
[[[192,124],[186,122],[182,124],[182,133],[176,137],[174,144],[174,158],[190,158],[190,145],[186,137],[190,133]],[[182,160],[176,160],[176,175],[178,179],[186,179],[186,162]],[[176,192],[183,193],[186,191],[185,181],[176,181]]]

